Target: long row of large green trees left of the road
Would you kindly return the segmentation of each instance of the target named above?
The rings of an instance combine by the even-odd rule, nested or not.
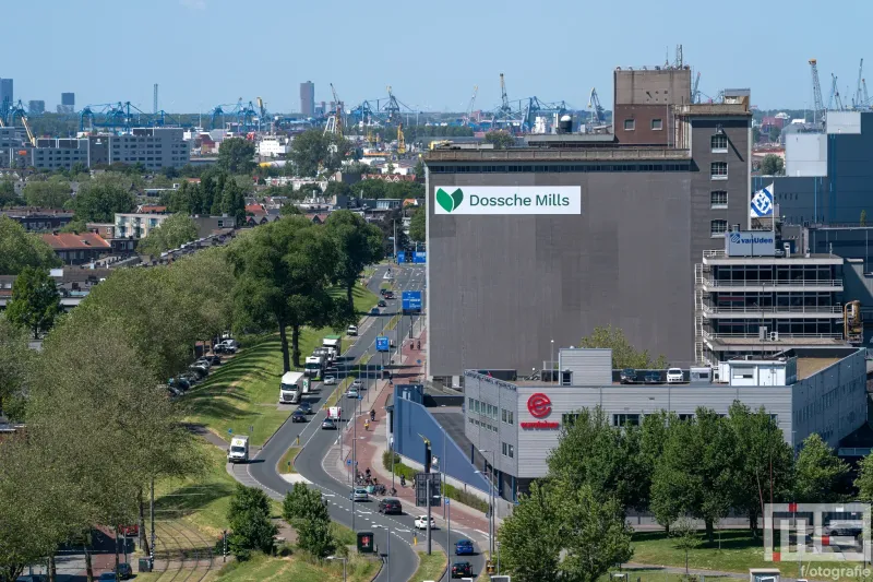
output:
[[[379,228],[354,213],[324,225],[290,216],[226,248],[113,272],[57,319],[39,353],[0,316],[0,406],[26,424],[26,438],[0,441],[0,580],[62,545],[84,548],[91,570],[94,527],[142,525],[153,480],[203,471],[165,387],[196,342],[231,328],[278,332],[288,370],[286,328],[299,365],[301,328],[351,321],[351,289],[381,251]],[[37,266],[24,265],[45,274]]]

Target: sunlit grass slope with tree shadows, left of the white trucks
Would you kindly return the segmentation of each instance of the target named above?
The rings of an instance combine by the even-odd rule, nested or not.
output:
[[[344,293],[336,289],[336,293]],[[354,289],[356,310],[364,314],[376,302],[368,289]],[[321,345],[331,329],[304,329],[300,333],[301,359]],[[290,332],[289,332],[290,334]],[[218,367],[184,399],[190,406],[188,421],[207,426],[225,440],[228,430],[249,435],[251,444],[262,446],[288,418],[288,411],[277,409],[282,377],[282,344],[278,334],[244,345],[239,355]]]

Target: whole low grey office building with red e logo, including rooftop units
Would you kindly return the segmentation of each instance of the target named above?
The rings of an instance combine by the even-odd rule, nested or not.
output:
[[[561,429],[583,408],[599,406],[613,426],[639,425],[660,411],[692,418],[701,406],[727,415],[734,401],[762,406],[799,452],[817,432],[830,447],[866,423],[866,365],[857,347],[793,348],[772,357],[740,358],[714,370],[684,370],[681,383],[620,383],[610,349],[559,349],[554,382],[498,380],[465,372],[464,430],[491,465],[500,495],[515,500],[546,476]]]

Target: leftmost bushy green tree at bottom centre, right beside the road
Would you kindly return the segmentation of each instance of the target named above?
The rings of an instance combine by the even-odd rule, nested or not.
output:
[[[559,509],[548,486],[530,485],[521,495],[512,515],[498,530],[502,566],[517,582],[559,580],[559,563],[564,543],[557,524]]]

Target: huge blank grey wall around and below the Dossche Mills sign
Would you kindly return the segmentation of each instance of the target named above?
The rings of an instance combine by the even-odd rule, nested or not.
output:
[[[641,349],[691,364],[693,175],[429,173],[429,375],[539,368],[551,340],[577,345],[607,324]],[[433,214],[438,187],[547,185],[581,186],[582,214]],[[708,168],[705,186],[708,214]],[[723,247],[705,222],[705,242]]]

